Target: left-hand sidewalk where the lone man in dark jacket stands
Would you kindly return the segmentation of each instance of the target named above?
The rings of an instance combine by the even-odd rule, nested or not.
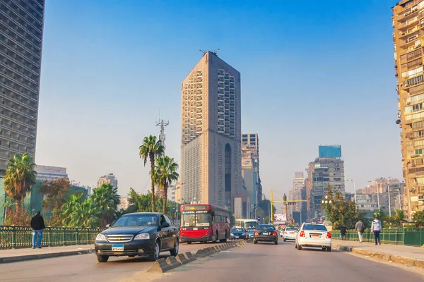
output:
[[[71,245],[61,247],[42,247],[41,249],[8,249],[0,250],[0,263],[21,262],[30,259],[46,259],[68,255],[83,255],[93,252],[94,245]]]

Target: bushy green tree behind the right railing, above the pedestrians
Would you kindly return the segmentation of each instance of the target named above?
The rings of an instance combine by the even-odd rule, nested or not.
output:
[[[348,229],[355,228],[358,219],[363,219],[363,214],[356,211],[355,202],[345,200],[340,192],[333,192],[331,185],[328,191],[329,204],[322,204],[326,210],[326,219],[333,223],[334,228],[346,226]]]

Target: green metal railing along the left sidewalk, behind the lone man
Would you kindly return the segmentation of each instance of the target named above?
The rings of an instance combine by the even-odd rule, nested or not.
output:
[[[42,247],[93,244],[100,228],[46,227],[42,231]],[[30,226],[0,226],[0,250],[32,247]]]

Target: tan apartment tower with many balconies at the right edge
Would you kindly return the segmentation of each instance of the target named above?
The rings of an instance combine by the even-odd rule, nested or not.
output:
[[[402,166],[406,187],[404,212],[424,210],[424,1],[404,0],[392,8],[394,68]]]

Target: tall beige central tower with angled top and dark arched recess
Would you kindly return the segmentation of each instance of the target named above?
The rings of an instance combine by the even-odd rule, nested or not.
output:
[[[233,207],[242,188],[240,73],[205,52],[181,84],[182,198]]]

